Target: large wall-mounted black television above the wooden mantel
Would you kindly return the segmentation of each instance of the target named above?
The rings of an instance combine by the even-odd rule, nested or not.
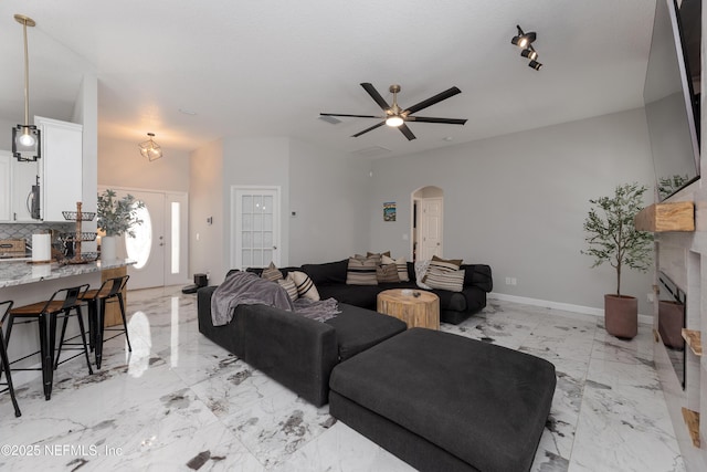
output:
[[[699,179],[701,0],[656,0],[643,101],[663,201]]]

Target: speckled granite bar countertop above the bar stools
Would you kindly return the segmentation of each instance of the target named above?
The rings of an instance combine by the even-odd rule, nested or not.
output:
[[[118,259],[108,263],[95,261],[85,264],[66,265],[59,263],[31,264],[27,261],[4,261],[0,262],[0,289],[81,274],[91,274],[131,264],[135,264],[135,261],[129,259]]]

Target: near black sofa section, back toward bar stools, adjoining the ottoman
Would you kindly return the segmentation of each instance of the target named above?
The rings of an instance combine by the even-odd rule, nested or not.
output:
[[[316,406],[329,400],[329,376],[340,361],[408,328],[404,322],[339,304],[321,323],[266,305],[239,305],[228,325],[213,326],[215,286],[197,292],[199,332]]]

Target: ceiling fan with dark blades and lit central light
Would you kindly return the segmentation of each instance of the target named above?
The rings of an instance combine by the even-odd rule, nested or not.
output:
[[[426,108],[429,106],[434,105],[435,103],[442,102],[443,99],[447,99],[456,94],[461,94],[462,91],[458,90],[457,87],[452,87],[450,90],[446,90],[444,92],[441,92],[428,99],[423,99],[422,102],[412,105],[409,108],[402,109],[399,105],[398,105],[398,93],[400,92],[400,85],[391,85],[389,91],[390,93],[393,94],[393,103],[392,105],[388,105],[388,103],[386,102],[386,99],[383,99],[383,97],[378,93],[378,91],[376,90],[376,87],[373,87],[373,85],[369,84],[368,82],[365,82],[361,84],[361,86],[363,87],[363,90],[366,92],[368,92],[368,94],[371,96],[371,98],[373,98],[373,101],[378,104],[378,106],[380,106],[383,112],[386,112],[386,115],[383,116],[374,116],[374,115],[345,115],[345,114],[337,114],[337,113],[320,113],[319,115],[321,116],[347,116],[347,117],[354,117],[354,118],[378,118],[378,119],[382,119],[382,122],[371,126],[370,128],[366,128],[360,133],[357,133],[355,135],[352,135],[351,137],[356,138],[361,136],[362,134],[366,134],[368,132],[371,132],[380,126],[383,125],[388,125],[391,127],[397,127],[398,129],[400,129],[400,133],[402,133],[408,140],[412,140],[415,138],[415,135],[412,134],[412,132],[410,130],[410,128],[408,127],[408,125],[405,124],[407,122],[418,122],[418,123],[442,123],[442,124],[446,124],[446,125],[463,125],[466,123],[466,119],[456,119],[456,118],[431,118],[429,116],[413,116],[413,113],[419,112],[423,108]]]

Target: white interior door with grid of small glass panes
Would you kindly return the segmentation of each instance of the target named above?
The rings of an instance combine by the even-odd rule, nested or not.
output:
[[[231,188],[231,266],[279,265],[279,188]]]

